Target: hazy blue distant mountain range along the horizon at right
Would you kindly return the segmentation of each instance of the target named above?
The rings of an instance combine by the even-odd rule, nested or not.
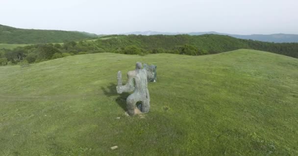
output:
[[[295,34],[271,34],[271,35],[262,35],[262,34],[253,34],[253,35],[234,35],[234,34],[224,34],[218,33],[214,31],[210,32],[190,32],[190,33],[168,33],[168,32],[156,32],[156,31],[136,31],[130,33],[124,33],[123,35],[179,35],[179,34],[187,34],[187,35],[203,35],[203,34],[216,34],[216,35],[227,35],[237,39],[252,39],[252,40],[259,40],[265,42],[276,42],[276,43],[283,43],[283,42],[298,42],[298,35]]]

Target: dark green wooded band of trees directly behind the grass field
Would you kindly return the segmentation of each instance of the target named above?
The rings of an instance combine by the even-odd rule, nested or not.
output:
[[[0,65],[34,63],[72,55],[103,52],[141,56],[157,53],[197,56],[243,48],[298,58],[298,43],[270,43],[222,35],[112,35],[104,38],[106,39],[34,44],[12,50],[1,49]]]

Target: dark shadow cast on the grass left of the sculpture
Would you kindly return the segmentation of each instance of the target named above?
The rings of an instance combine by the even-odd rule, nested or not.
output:
[[[129,96],[129,93],[122,93],[122,94],[118,94],[117,90],[116,90],[116,84],[114,83],[110,83],[109,86],[107,86],[106,88],[101,87],[101,90],[103,92],[104,95],[106,95],[107,97],[111,97],[111,96],[118,96],[116,98],[116,102],[117,104],[124,110],[126,111],[126,98]]]

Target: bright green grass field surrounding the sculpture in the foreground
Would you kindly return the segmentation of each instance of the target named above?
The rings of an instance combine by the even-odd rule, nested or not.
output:
[[[157,65],[157,82],[150,112],[126,117],[117,71],[126,78],[137,61]],[[286,56],[100,53],[0,66],[1,156],[297,156],[297,138],[298,59]]]

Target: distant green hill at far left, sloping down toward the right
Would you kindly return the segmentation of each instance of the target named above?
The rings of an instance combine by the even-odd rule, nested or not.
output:
[[[74,31],[19,29],[0,25],[0,43],[56,43],[63,42],[65,40],[81,40],[92,38],[97,38],[97,35]]]

